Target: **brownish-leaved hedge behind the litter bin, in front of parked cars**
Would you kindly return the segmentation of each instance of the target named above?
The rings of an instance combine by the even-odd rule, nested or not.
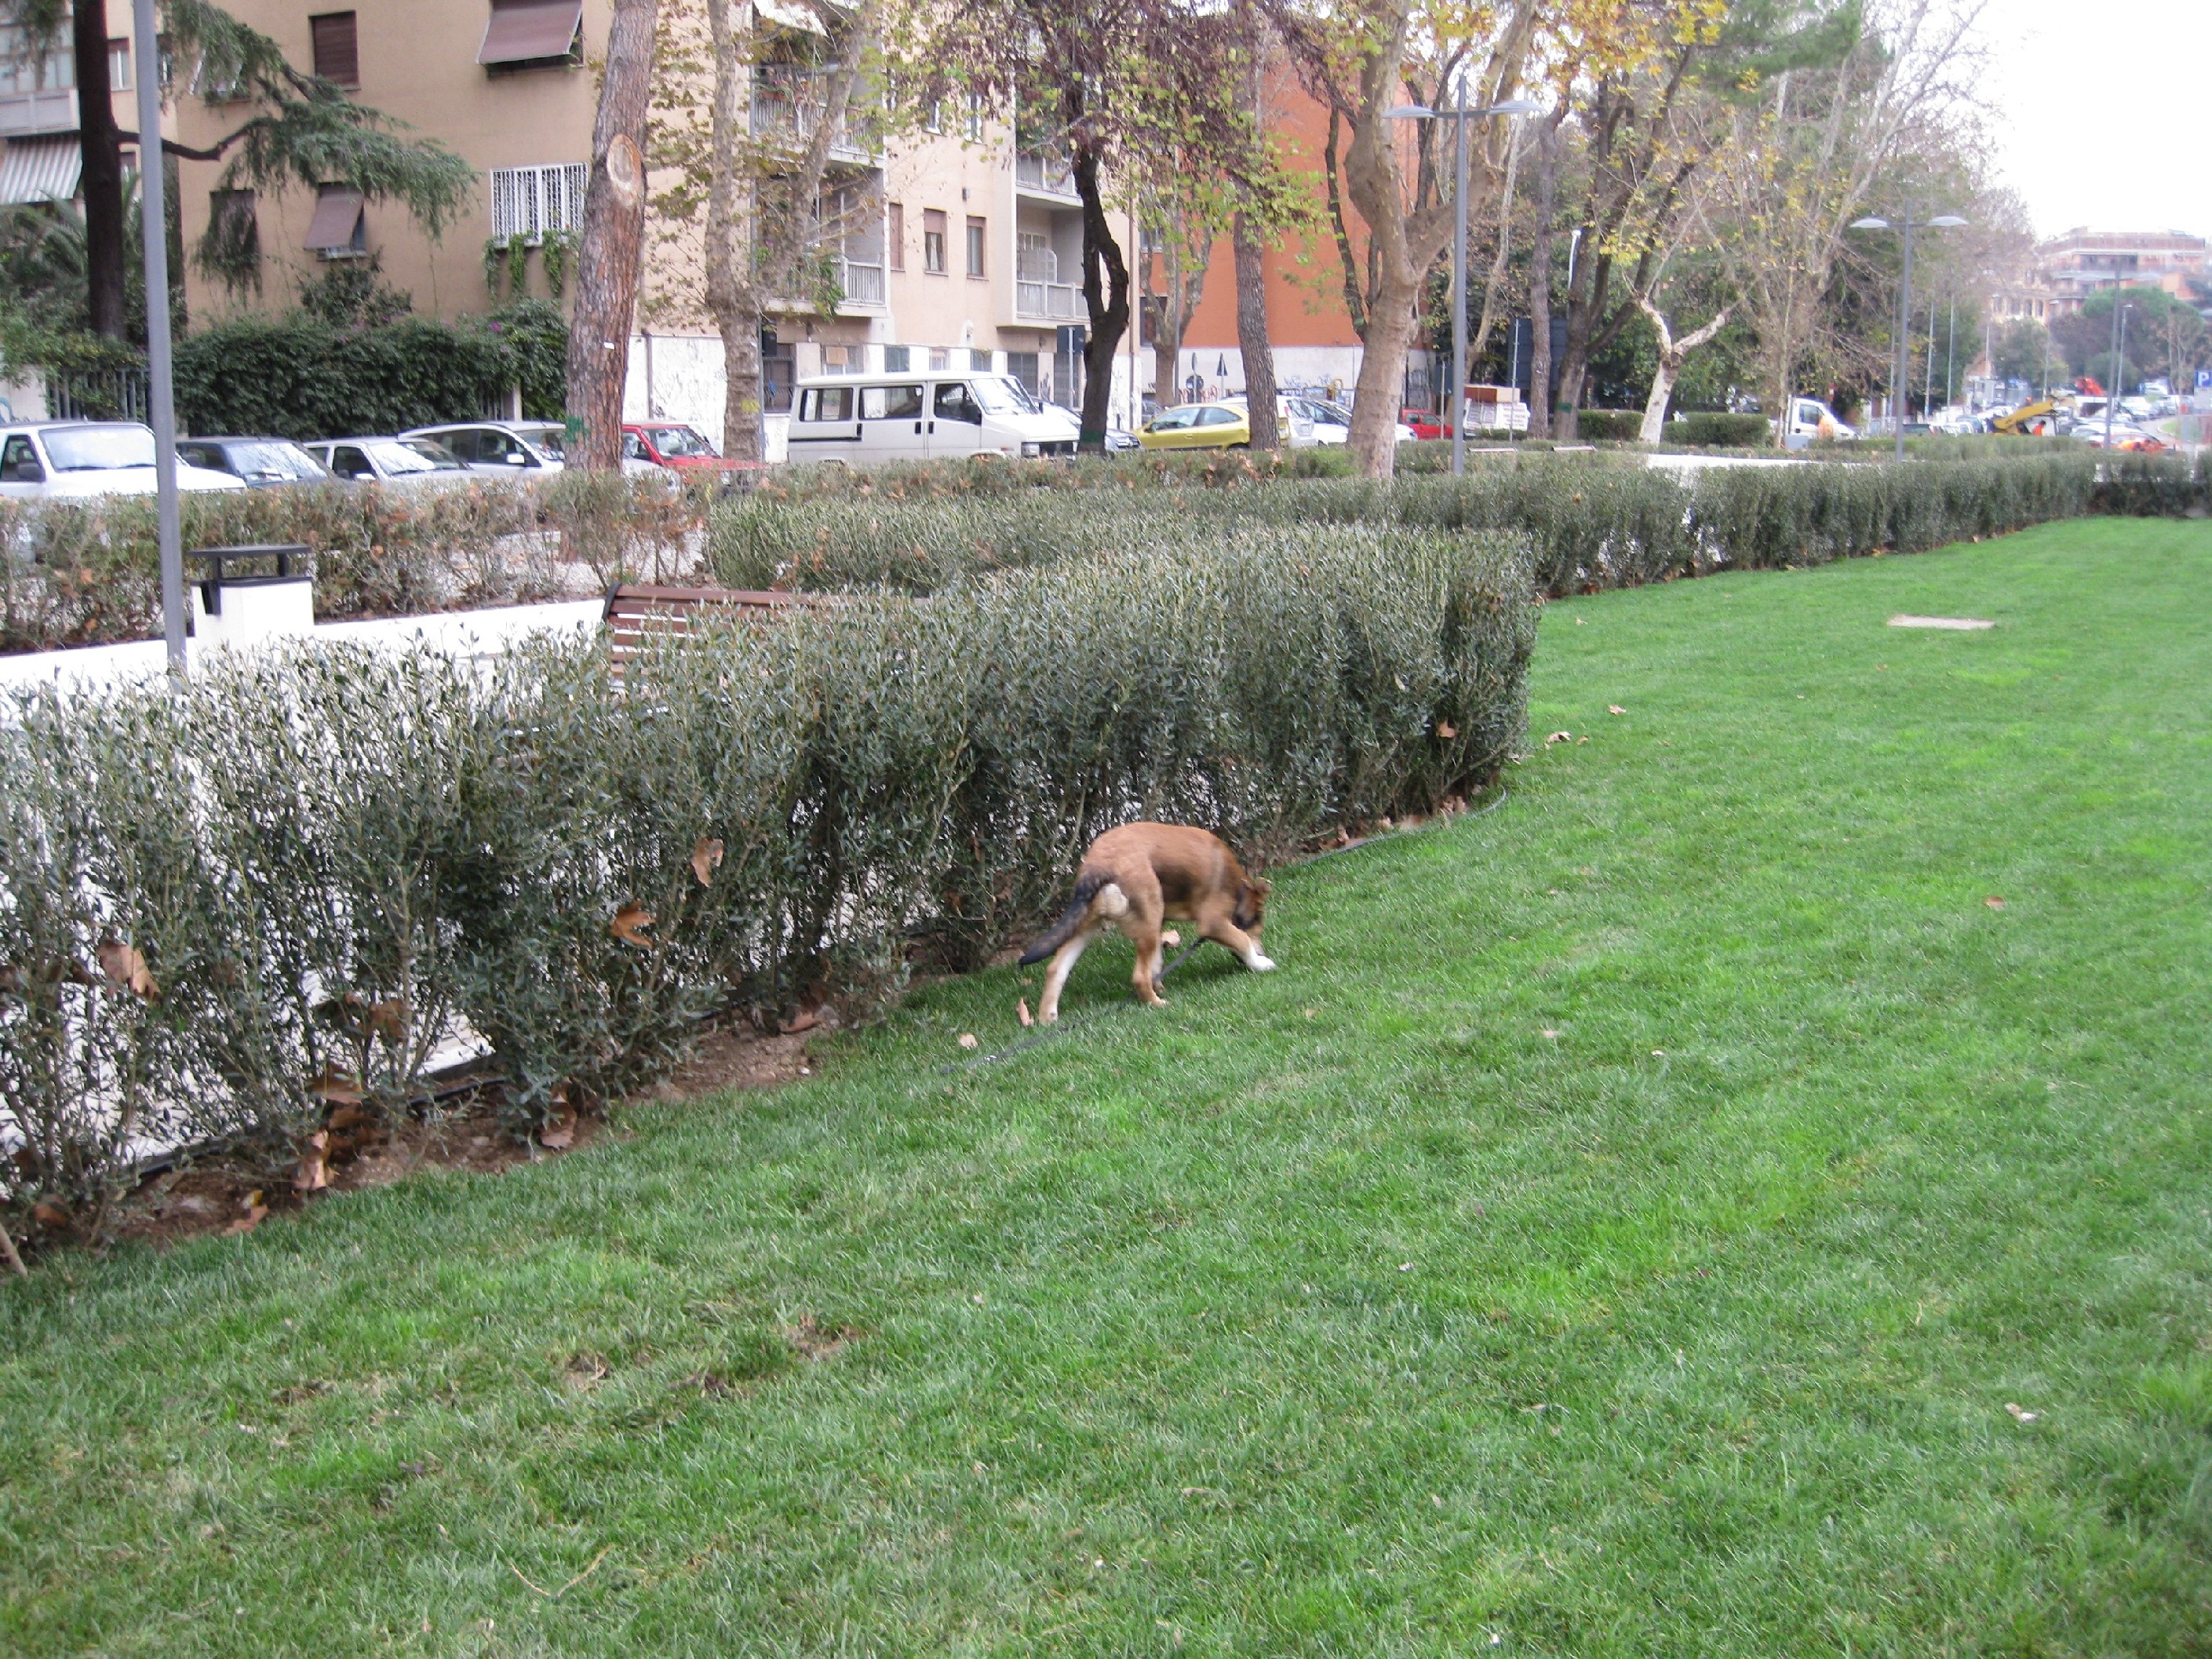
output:
[[[192,491],[184,546],[301,542],[325,622],[529,604],[619,575],[692,564],[706,491],[562,473],[542,487],[321,484]],[[0,502],[0,650],[60,650],[161,633],[150,495]]]

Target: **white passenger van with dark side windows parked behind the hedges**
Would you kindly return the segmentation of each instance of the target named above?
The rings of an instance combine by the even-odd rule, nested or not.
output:
[[[1073,456],[1079,436],[1009,374],[823,374],[796,387],[790,456],[843,465]]]

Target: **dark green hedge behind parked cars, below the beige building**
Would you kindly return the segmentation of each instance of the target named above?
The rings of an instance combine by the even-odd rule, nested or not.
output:
[[[529,414],[557,418],[566,354],[568,325],[544,301],[458,323],[239,316],[177,341],[177,420],[199,434],[343,438],[476,420],[513,387]]]

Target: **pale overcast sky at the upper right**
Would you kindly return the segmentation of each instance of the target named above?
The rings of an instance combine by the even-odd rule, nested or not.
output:
[[[1991,0],[1997,166],[2037,237],[2212,237],[2212,0]]]

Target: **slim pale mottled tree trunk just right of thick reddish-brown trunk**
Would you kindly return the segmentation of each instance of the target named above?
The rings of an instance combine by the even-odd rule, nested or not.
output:
[[[750,13],[748,13],[750,15]],[[706,204],[706,307],[721,334],[721,453],[761,460],[761,290],[752,270],[754,190],[743,142],[752,53],[730,27],[730,0],[706,0],[714,44],[712,175]]]

